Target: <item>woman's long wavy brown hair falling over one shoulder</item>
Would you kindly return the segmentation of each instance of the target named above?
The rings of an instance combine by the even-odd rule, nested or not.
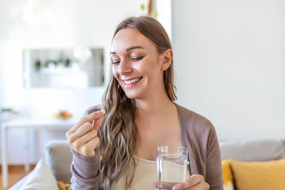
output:
[[[172,49],[170,40],[163,26],[154,18],[129,17],[122,21],[116,28],[113,39],[118,31],[124,28],[132,28],[146,36],[156,47],[160,55],[167,49]],[[113,40],[112,40],[113,43]],[[164,71],[164,84],[167,95],[171,101],[177,99],[174,89],[173,60],[167,70]],[[126,172],[125,189],[129,188],[133,181],[137,162],[135,153],[140,143],[137,125],[135,123],[134,99],[129,99],[110,68],[109,80],[102,99],[102,109],[106,114],[103,124],[98,130],[100,138],[101,154],[101,180],[100,186],[108,189],[119,177]],[[133,164],[134,170],[129,168]]]

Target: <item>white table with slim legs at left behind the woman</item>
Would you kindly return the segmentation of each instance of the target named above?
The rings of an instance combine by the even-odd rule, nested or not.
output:
[[[2,151],[2,186],[3,188],[7,188],[8,186],[8,166],[7,166],[7,130],[9,128],[25,128],[25,129],[33,129],[33,130],[69,130],[74,126],[80,119],[67,119],[67,120],[59,120],[59,119],[19,119],[19,120],[11,120],[6,121],[1,124],[1,151]],[[28,131],[28,130],[26,130]],[[26,132],[28,135],[28,132]],[[35,138],[35,135],[31,138]],[[27,144],[28,144],[28,138]],[[29,164],[29,148],[27,149],[27,155],[25,158],[25,171],[30,170]]]

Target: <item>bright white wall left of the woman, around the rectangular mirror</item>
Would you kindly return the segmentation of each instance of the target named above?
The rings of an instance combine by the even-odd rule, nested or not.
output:
[[[91,46],[104,48],[105,74],[109,73],[111,39],[117,24],[128,16],[140,16],[141,4],[148,0],[48,1],[55,13],[52,24],[27,24],[22,15],[27,0],[0,1],[0,107],[13,107],[22,117],[48,118],[59,109],[67,109],[75,118],[98,104],[103,89],[23,89],[23,48]],[[21,164],[25,141],[23,131],[9,132],[9,163]],[[46,135],[48,134],[48,135]],[[65,139],[65,132],[40,132],[35,163],[44,158],[44,143],[51,138]],[[44,140],[45,139],[45,140]],[[15,141],[16,140],[16,141]],[[14,151],[11,151],[11,149]]]

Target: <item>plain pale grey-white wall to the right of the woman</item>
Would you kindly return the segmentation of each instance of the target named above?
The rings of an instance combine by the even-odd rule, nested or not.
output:
[[[180,105],[219,140],[285,137],[285,1],[172,1]]]

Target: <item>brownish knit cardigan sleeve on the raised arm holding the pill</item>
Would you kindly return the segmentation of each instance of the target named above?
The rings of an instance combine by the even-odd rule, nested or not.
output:
[[[97,108],[89,108],[85,111],[84,116],[98,111]],[[94,156],[84,156],[74,152],[70,147],[73,154],[71,164],[71,187],[70,190],[97,190],[99,189],[99,180],[101,177],[100,169],[100,152],[99,147],[95,149]]]

